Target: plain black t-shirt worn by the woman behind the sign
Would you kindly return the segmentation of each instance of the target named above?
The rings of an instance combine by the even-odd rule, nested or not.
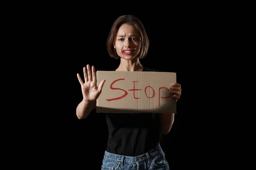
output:
[[[143,71],[157,71],[143,68]],[[106,151],[124,156],[138,156],[160,142],[157,113],[107,113],[108,144]]]

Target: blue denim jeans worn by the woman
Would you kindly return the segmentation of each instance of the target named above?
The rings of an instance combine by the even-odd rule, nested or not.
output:
[[[140,156],[122,156],[105,151],[102,170],[169,170],[160,144]]]

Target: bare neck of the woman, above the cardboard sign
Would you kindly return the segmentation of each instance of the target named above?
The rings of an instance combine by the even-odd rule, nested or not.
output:
[[[121,58],[116,71],[143,71],[143,65],[140,64],[140,60],[137,57],[131,60]]]

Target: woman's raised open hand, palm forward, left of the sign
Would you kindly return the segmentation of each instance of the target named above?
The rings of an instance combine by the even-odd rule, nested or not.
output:
[[[90,65],[87,65],[87,68],[84,69],[84,82],[81,79],[80,75],[77,74],[77,78],[81,84],[81,90],[83,94],[83,100],[85,102],[95,101],[98,99],[99,95],[102,92],[102,87],[105,80],[102,80],[97,86],[96,72],[94,66],[90,70]]]

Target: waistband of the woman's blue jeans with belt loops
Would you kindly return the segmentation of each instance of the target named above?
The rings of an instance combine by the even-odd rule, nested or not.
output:
[[[155,147],[154,149],[148,151],[147,153],[144,153],[143,155],[139,155],[139,156],[123,156],[123,155],[116,155],[113,153],[108,153],[107,151],[105,151],[104,154],[104,159],[108,159],[111,161],[117,161],[119,162],[119,164],[121,164],[121,167],[123,165],[123,163],[140,163],[142,161],[148,161],[148,163],[151,163],[151,157],[154,157],[155,155],[157,155],[158,153],[162,152],[162,147],[160,146],[160,144],[157,145],[157,147]]]

